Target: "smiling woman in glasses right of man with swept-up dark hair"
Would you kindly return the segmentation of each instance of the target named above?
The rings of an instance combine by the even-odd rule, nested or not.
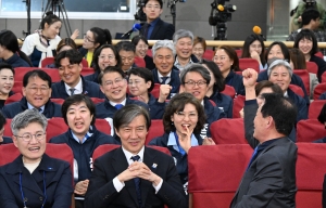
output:
[[[92,68],[95,69],[95,73],[85,76],[85,80],[99,83],[99,75],[108,66],[121,67],[120,54],[112,44],[103,44],[96,50],[92,56]]]

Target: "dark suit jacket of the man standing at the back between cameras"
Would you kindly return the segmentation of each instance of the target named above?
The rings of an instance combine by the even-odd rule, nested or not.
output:
[[[148,27],[148,23],[146,23],[141,27],[139,34],[145,36],[145,30],[147,27]],[[175,28],[172,24],[166,23],[159,17],[158,23],[156,23],[149,40],[165,40],[165,39],[172,40],[174,31],[175,31]]]

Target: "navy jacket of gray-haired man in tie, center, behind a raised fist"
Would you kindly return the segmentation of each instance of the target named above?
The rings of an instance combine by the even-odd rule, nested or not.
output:
[[[167,99],[170,100],[172,98],[172,95],[179,93],[179,88],[180,88],[180,77],[179,77],[179,69],[177,69],[175,66],[172,68],[171,72],[171,80],[168,82],[168,84],[172,87],[172,90],[167,96]],[[153,74],[153,78],[154,78],[154,83],[161,83],[159,80],[159,73],[158,73],[158,68],[154,68],[152,70]]]

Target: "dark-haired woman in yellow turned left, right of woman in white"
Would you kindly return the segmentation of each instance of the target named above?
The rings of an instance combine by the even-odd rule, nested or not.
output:
[[[92,27],[84,35],[83,47],[79,49],[79,52],[87,60],[89,67],[92,67],[92,57],[96,49],[102,44],[112,44],[109,29]]]

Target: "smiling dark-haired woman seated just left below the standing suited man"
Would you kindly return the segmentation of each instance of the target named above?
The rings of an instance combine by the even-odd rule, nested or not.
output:
[[[148,44],[146,37],[142,35],[135,36],[131,39],[131,43],[134,43],[136,47],[136,53],[135,53],[136,56],[143,58],[143,61],[146,63],[146,68],[154,69],[155,64],[153,63],[153,58],[151,56],[147,55],[149,44]]]

